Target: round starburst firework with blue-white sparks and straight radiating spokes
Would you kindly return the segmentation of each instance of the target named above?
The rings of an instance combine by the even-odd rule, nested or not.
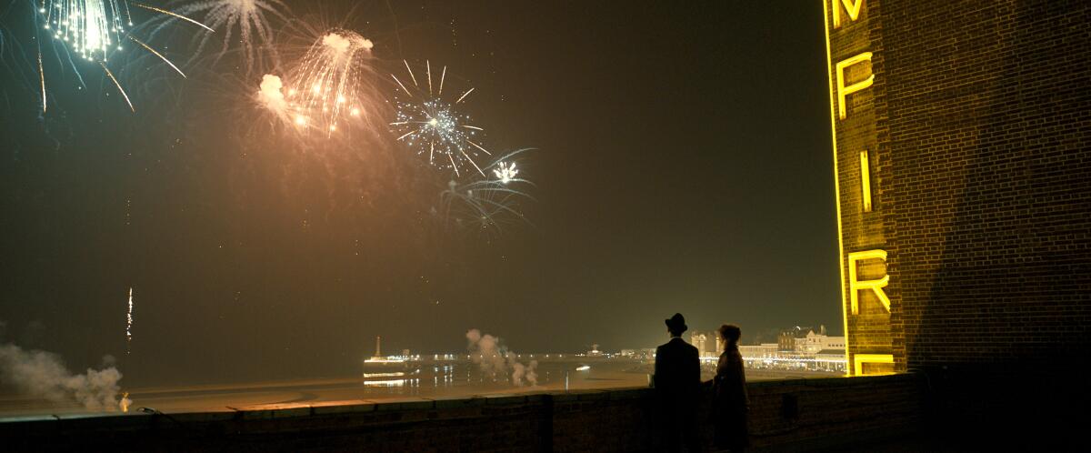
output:
[[[447,67],[443,67],[437,80],[432,74],[432,63],[424,63],[424,82],[427,90],[418,82],[417,74],[403,60],[409,74],[412,88],[403,83],[397,75],[391,74],[400,87],[396,96],[397,119],[391,126],[395,127],[398,141],[417,151],[418,155],[428,154],[428,163],[442,168],[449,168],[455,176],[461,176],[460,167],[472,166],[482,177],[488,177],[475,160],[482,154],[491,156],[488,150],[476,142],[478,134],[484,129],[473,126],[468,115],[460,114],[455,106],[473,92],[469,88],[458,95],[454,102],[443,97],[443,84],[447,76]],[[449,93],[449,90],[448,90]]]

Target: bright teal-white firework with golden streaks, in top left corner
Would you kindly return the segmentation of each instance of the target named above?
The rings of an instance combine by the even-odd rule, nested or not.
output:
[[[132,4],[144,10],[182,19],[212,31],[212,28],[200,22],[171,11],[142,3]],[[124,50],[122,44],[125,39],[136,43],[141,48],[173,68],[183,78],[185,76],[163,53],[130,34],[133,21],[129,2],[119,0],[41,0],[37,9],[36,20],[40,23],[43,29],[64,47],[65,51],[71,51],[84,60],[97,62],[103,68],[104,73],[118,87],[118,91],[132,111],[136,111],[132,99],[129,98],[129,94],[125,93],[124,87],[121,86],[121,83],[107,67],[112,52]],[[46,74],[41,59],[41,47],[39,44],[38,79],[41,88],[41,111],[45,112],[47,110]],[[76,75],[82,81],[80,71],[74,62],[72,63],[72,68],[76,70]]]

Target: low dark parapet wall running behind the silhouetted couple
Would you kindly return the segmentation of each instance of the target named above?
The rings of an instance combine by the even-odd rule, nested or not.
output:
[[[920,374],[750,384],[755,446],[828,449],[916,432]],[[652,451],[647,389],[0,424],[3,451]],[[707,407],[697,416],[706,439]]]

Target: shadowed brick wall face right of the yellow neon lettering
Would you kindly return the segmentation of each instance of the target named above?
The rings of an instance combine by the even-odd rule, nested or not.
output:
[[[909,368],[1089,345],[1091,3],[884,2]]]

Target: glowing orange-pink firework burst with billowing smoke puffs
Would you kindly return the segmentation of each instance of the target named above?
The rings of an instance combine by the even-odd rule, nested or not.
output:
[[[265,74],[257,102],[299,131],[327,138],[377,110],[370,39],[341,28],[317,38],[281,79]]]

